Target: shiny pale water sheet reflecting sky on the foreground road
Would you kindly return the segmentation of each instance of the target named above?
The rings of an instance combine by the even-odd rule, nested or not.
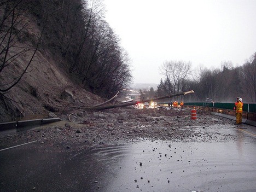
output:
[[[102,173],[92,191],[256,191],[254,142],[142,139],[92,150]],[[91,181],[92,183],[94,181]]]

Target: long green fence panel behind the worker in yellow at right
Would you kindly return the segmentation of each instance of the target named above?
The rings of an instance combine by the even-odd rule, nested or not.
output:
[[[214,107],[220,109],[234,109],[235,103],[221,103],[221,102],[184,102],[184,106],[203,106]],[[243,103],[243,111],[249,113],[256,113],[256,103]]]

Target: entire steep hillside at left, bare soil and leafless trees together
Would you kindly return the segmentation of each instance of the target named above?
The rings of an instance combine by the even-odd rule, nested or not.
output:
[[[94,105],[129,83],[119,40],[96,8],[80,0],[0,3],[0,122]]]

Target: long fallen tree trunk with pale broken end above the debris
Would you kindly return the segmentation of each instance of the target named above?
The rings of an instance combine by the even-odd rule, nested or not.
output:
[[[191,94],[191,93],[194,93],[194,91],[191,90],[191,91],[187,91],[187,92],[181,92],[179,94],[158,97],[158,98],[154,98],[153,100],[128,101],[128,102],[124,102],[124,103],[113,104],[112,106],[98,106],[98,107],[90,107],[90,108],[86,108],[86,109],[102,110],[102,109],[112,109],[112,108],[118,108],[118,107],[134,106],[137,103],[144,103],[144,102],[150,102],[150,101],[159,101],[159,100],[163,100],[165,98],[171,98],[171,97],[176,97],[176,96],[180,96],[180,95],[187,95],[187,94]]]

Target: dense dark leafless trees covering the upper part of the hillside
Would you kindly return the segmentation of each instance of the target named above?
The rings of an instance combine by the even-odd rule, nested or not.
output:
[[[101,2],[9,0],[2,3],[0,61],[3,64],[0,66],[0,90],[8,91],[9,87],[15,86],[15,82],[19,82],[27,72],[36,54],[39,45],[37,42],[40,42],[41,36],[35,36],[30,46],[25,47],[28,43],[21,43],[22,40],[31,38],[25,30],[30,27],[29,18],[38,19],[36,24],[41,28],[45,26],[42,40],[44,48],[54,55],[62,54],[68,63],[65,67],[69,68],[72,75],[80,78],[85,88],[101,96],[110,97],[128,86],[131,80],[129,57],[120,47],[120,40],[112,28],[104,21]],[[27,42],[31,42],[30,39],[27,39]],[[32,51],[34,54],[31,55]],[[18,69],[19,67],[14,66],[19,64],[15,59],[21,55],[31,55],[31,62],[22,70],[21,75],[8,75],[5,69],[11,65]]]

